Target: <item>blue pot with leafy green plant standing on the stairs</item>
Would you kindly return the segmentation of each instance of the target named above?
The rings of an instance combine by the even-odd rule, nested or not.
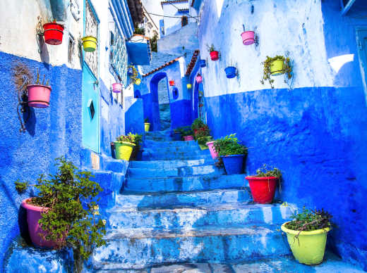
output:
[[[241,174],[247,147],[239,144],[236,134],[229,134],[214,141],[214,148],[222,158],[227,174]]]

